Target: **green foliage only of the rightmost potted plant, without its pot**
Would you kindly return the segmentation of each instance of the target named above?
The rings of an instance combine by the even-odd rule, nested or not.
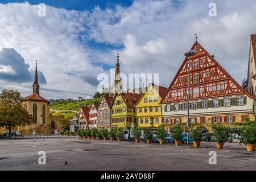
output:
[[[241,142],[243,144],[254,144],[256,143],[256,124],[251,123],[249,125],[245,125],[241,129]]]

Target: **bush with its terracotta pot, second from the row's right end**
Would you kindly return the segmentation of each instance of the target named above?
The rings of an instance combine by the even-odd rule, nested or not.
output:
[[[213,136],[215,137],[215,142],[217,142],[217,149],[223,148],[224,143],[228,140],[231,135],[231,129],[228,126],[221,124],[212,125]]]

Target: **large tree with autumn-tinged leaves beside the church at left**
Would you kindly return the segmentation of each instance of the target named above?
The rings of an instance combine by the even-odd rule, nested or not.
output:
[[[20,93],[16,90],[3,89],[0,94],[0,127],[9,130],[9,138],[13,127],[31,123],[32,115],[23,108]]]

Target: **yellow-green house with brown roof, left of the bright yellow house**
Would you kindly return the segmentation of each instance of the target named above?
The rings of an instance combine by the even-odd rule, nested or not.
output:
[[[111,127],[138,127],[136,107],[141,94],[120,93],[116,94],[111,107]]]

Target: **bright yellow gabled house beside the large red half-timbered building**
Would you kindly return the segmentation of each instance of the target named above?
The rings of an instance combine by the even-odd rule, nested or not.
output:
[[[138,118],[138,127],[154,127],[164,124],[160,101],[167,92],[167,88],[150,84],[146,92],[135,105]]]

